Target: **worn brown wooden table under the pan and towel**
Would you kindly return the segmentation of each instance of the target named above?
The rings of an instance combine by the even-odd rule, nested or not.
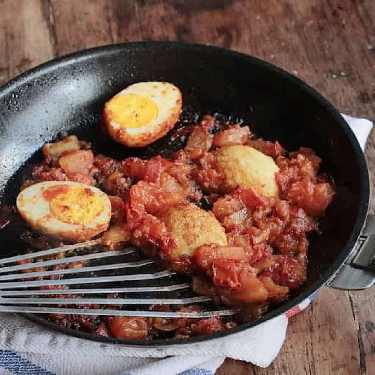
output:
[[[0,84],[68,52],[140,39],[252,54],[375,120],[374,0],[0,0]],[[374,186],[375,132],[366,156]],[[290,319],[269,368],[226,360],[217,374],[374,374],[374,305],[374,288],[325,288]]]

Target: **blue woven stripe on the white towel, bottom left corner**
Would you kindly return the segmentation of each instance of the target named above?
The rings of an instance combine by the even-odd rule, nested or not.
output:
[[[46,371],[11,350],[0,350],[0,367],[15,375],[56,375]]]

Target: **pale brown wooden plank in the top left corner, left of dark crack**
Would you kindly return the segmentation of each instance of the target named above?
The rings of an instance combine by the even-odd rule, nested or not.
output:
[[[41,0],[0,2],[0,84],[54,57],[48,3]]]

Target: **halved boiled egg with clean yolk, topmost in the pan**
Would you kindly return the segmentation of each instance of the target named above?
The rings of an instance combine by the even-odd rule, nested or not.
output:
[[[128,147],[143,147],[172,129],[181,107],[181,92],[173,84],[139,82],[105,104],[104,123],[116,142]]]

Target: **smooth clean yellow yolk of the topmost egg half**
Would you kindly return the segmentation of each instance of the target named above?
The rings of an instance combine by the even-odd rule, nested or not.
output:
[[[155,120],[157,105],[149,98],[137,94],[118,94],[107,103],[111,120],[120,127],[138,128]]]

